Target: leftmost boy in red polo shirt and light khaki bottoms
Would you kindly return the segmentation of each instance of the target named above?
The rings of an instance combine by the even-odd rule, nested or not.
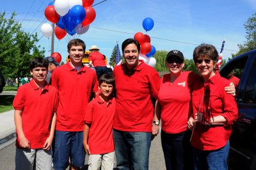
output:
[[[33,77],[13,100],[16,126],[15,169],[51,169],[51,144],[56,125],[58,91],[46,81],[48,62],[30,62]]]

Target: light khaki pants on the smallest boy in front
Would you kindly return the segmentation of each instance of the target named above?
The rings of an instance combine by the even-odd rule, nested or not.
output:
[[[104,153],[99,155],[90,155],[88,160],[88,170],[101,170],[113,169],[115,164],[115,152]]]

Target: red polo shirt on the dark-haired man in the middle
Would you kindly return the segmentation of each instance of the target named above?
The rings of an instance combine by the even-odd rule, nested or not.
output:
[[[113,128],[129,132],[152,132],[154,107],[160,78],[156,70],[140,60],[129,71],[126,64],[115,67],[116,113]]]

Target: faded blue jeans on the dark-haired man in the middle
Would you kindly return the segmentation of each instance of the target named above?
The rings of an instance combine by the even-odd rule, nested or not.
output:
[[[117,169],[148,169],[150,132],[125,132],[113,129]]]

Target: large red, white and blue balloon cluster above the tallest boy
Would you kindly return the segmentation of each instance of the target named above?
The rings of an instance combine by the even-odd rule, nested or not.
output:
[[[55,36],[64,38],[67,34],[84,34],[95,20],[96,12],[92,8],[94,0],[56,0],[45,8],[47,20],[56,24]],[[52,26],[43,24],[41,32],[46,38],[52,35]]]

